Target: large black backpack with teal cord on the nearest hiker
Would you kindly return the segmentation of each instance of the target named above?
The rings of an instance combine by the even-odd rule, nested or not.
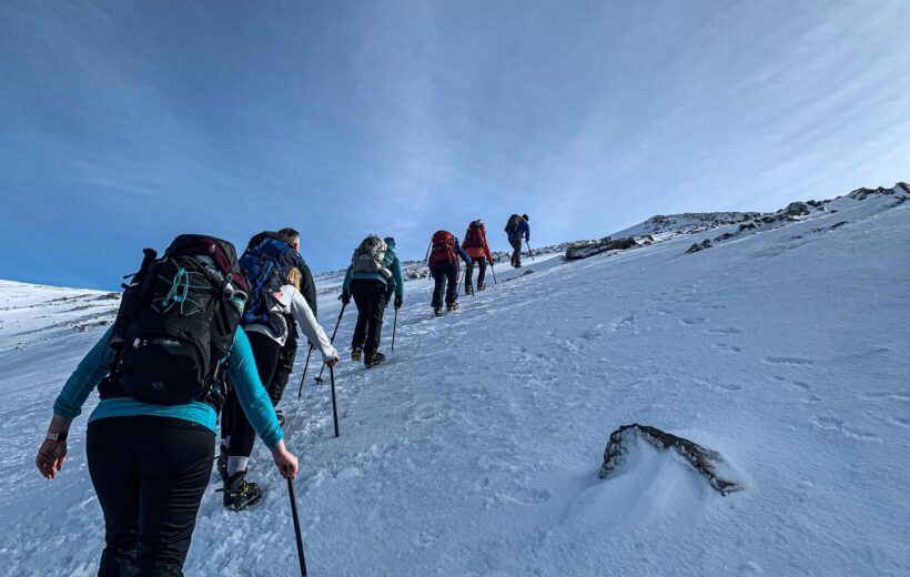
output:
[[[123,285],[110,337],[114,361],[99,385],[101,397],[215,404],[212,388],[247,292],[234,246],[183,234],[161,259],[151,249],[144,253],[139,272]]]

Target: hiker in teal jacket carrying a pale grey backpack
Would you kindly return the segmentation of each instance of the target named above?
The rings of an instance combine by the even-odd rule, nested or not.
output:
[[[395,308],[401,308],[404,302],[404,279],[402,263],[395,253],[395,239],[380,239],[371,234],[351,257],[340,297],[345,306],[354,297],[357,323],[351,340],[351,360],[356,363],[363,357],[367,368],[385,361],[385,355],[378,348],[383,315],[393,293]]]

